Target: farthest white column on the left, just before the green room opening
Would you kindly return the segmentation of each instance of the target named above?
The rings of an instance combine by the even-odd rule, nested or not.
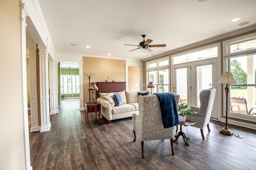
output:
[[[58,61],[49,61],[50,115],[60,113],[58,107]]]

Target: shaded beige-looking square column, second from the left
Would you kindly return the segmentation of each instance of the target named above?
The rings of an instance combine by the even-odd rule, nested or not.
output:
[[[33,40],[27,43],[29,50],[29,76],[30,76],[30,114],[31,114],[31,128],[30,132],[40,131],[38,125],[38,106],[37,106],[37,87],[36,87],[36,43]]]

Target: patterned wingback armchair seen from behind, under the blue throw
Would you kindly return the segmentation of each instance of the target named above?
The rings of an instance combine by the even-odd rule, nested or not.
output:
[[[180,96],[174,95],[176,106]],[[173,150],[174,127],[164,128],[158,97],[156,95],[138,96],[139,114],[132,114],[134,142],[136,134],[141,140],[142,158],[144,158],[144,141],[170,139]],[[178,108],[178,107],[177,107]]]

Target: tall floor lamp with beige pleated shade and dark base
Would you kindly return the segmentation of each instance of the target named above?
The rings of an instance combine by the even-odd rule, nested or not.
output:
[[[231,72],[222,73],[220,81],[218,82],[218,84],[227,84],[226,87],[225,87],[225,92],[226,92],[226,126],[223,129],[220,129],[220,133],[222,133],[224,135],[233,135],[233,133],[234,133],[230,129],[228,129],[228,91],[229,91],[228,84],[236,84],[236,83],[237,82],[233,78]]]

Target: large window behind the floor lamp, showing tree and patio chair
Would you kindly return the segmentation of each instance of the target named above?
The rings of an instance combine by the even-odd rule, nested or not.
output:
[[[231,117],[256,121],[256,33],[224,41],[223,45],[226,70],[238,82],[230,84],[228,111]]]

